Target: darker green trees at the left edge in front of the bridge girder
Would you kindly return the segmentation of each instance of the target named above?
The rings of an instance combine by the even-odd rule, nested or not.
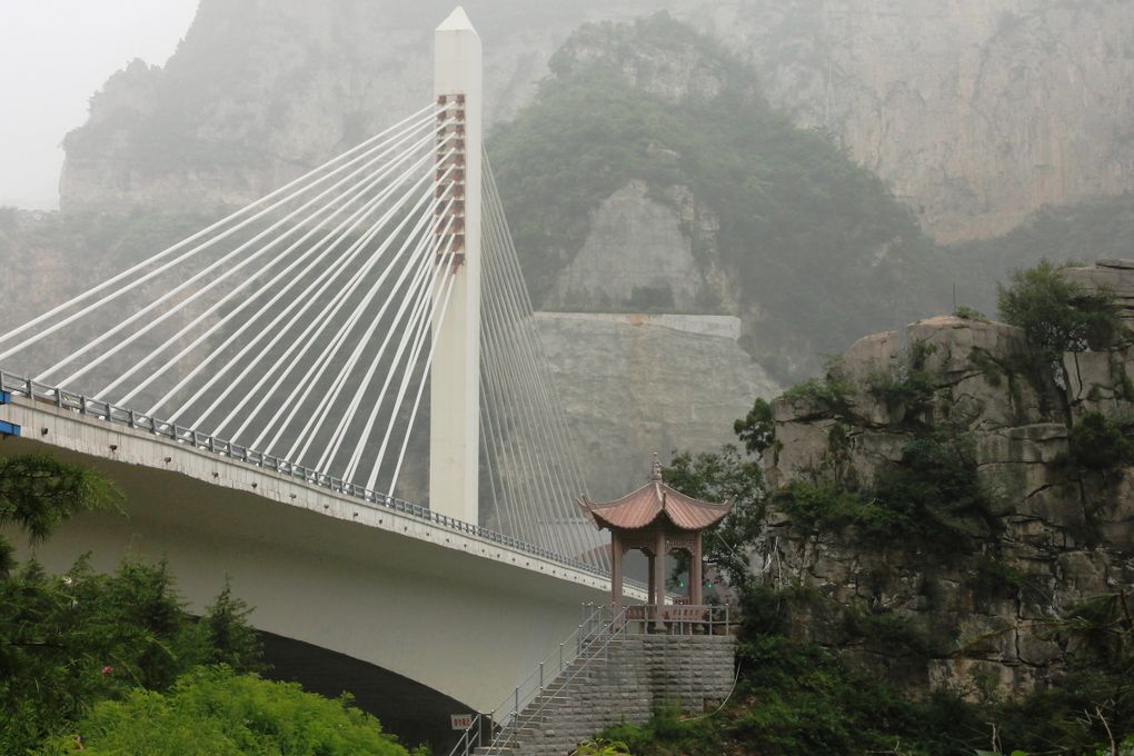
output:
[[[0,525],[34,543],[71,515],[120,508],[98,473],[44,456],[0,459]],[[82,557],[66,575],[17,566],[0,540],[0,753],[25,753],[96,702],[161,690],[197,664],[259,664],[247,606],[229,586],[194,620],[167,564],[126,559],[111,575]]]

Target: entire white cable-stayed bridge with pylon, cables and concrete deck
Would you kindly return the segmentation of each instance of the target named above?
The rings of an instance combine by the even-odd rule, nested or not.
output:
[[[429,105],[7,329],[0,432],[130,494],[52,567],[166,555],[198,606],[230,572],[262,629],[483,707],[604,601],[609,553],[482,152],[480,40],[458,9],[435,43]]]

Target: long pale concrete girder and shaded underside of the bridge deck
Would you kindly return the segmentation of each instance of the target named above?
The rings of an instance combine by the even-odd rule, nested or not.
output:
[[[25,427],[50,425],[56,444],[77,432],[67,425],[81,422],[69,413],[32,411],[35,417],[22,413]],[[116,456],[128,452],[127,444],[161,443],[130,431],[113,435]],[[174,467],[177,455],[194,453],[175,443],[164,448],[134,451],[174,455]],[[574,630],[583,602],[609,596],[607,586],[564,579],[561,570],[555,577],[553,564],[536,564],[522,552],[443,529],[423,535],[420,524],[395,512],[352,516],[352,504],[320,513],[310,502],[288,504],[247,484],[232,487],[225,483],[225,464],[217,466],[218,482],[209,483],[210,476],[26,436],[0,442],[0,455],[23,452],[92,466],[127,495],[126,516],[82,515],[37,546],[36,557],[50,569],[65,570],[85,552],[108,571],[126,554],[164,558],[197,612],[228,575],[234,592],[255,608],[251,619],[259,629],[375,664],[469,710],[496,707]],[[259,489],[265,494],[272,481],[266,483]],[[274,493],[287,501],[287,490]]]

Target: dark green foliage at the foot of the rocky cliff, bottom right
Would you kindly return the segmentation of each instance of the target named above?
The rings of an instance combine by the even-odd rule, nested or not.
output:
[[[742,601],[742,674],[719,714],[683,719],[663,710],[643,727],[621,724],[604,734],[638,756],[972,756],[990,741],[1004,753],[1086,756],[1109,754],[1111,736],[1120,741],[1134,732],[1129,644],[1115,642],[1116,634],[1129,637],[1129,608],[1114,596],[1068,615],[1102,635],[1058,687],[982,703],[945,690],[915,699],[853,671],[838,649],[798,640],[794,615],[813,621],[828,611],[806,591],[751,587]],[[936,643],[928,628],[890,614],[857,612],[847,623],[874,644],[914,653],[933,649],[919,644]]]

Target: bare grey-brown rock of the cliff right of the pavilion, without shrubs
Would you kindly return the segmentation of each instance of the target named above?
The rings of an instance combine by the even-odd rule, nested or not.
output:
[[[1114,284],[1116,270],[1076,275]],[[1128,286],[1129,271],[1118,282]],[[920,629],[913,654],[902,643],[844,646],[911,690],[1030,690],[1058,674],[1067,652],[1065,640],[1044,631],[1061,609],[1134,587],[1134,469],[1069,462],[1069,435],[1084,417],[1134,410],[1134,354],[1066,355],[1073,380],[1065,391],[1038,390],[1019,372],[1025,354],[1018,329],[934,317],[850,347],[829,376],[844,387],[838,406],[799,392],[772,405],[777,443],[765,465],[776,490],[802,481],[871,490],[924,438],[925,424],[972,443],[990,503],[966,547],[941,554],[915,540],[869,542],[862,524],[815,527],[773,503],[756,559],[770,584],[807,586],[850,614]],[[892,376],[909,369],[912,356],[931,381],[932,400],[923,406],[894,391]],[[1069,426],[1061,402],[1050,401],[1060,391]],[[846,620],[816,613],[806,628],[840,645]]]

